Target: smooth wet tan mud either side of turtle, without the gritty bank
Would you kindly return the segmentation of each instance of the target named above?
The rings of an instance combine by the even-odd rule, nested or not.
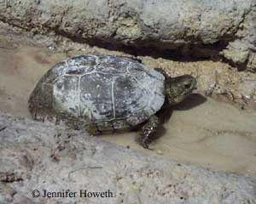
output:
[[[27,99],[38,79],[70,54],[49,48],[0,46],[0,110],[30,117]],[[206,63],[206,62],[201,62]],[[219,62],[212,62],[212,66]],[[174,108],[165,133],[144,150],[136,133],[105,135],[115,144],[180,162],[256,176],[256,111],[241,111],[199,94]]]

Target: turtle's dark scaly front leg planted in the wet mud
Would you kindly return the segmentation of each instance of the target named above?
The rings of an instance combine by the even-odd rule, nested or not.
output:
[[[145,149],[149,149],[148,144],[150,144],[152,140],[155,139],[154,133],[158,130],[159,127],[160,119],[155,115],[150,116],[148,122],[143,125],[140,135],[142,137],[141,144]]]

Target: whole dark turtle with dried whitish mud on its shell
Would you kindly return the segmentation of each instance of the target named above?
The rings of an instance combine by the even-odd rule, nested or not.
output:
[[[169,77],[134,58],[79,55],[44,74],[28,108],[35,120],[47,118],[93,135],[140,129],[140,143],[148,149],[163,124],[158,113],[195,88],[195,77]]]

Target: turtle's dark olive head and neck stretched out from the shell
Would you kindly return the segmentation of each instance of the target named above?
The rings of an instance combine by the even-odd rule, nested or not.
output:
[[[196,79],[190,75],[168,78],[166,80],[166,97],[170,105],[183,101],[196,89]]]

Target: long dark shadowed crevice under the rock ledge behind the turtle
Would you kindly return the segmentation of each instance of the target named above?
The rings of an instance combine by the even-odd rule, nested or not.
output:
[[[56,35],[67,37],[73,42],[87,43],[90,46],[106,48],[112,51],[121,51],[125,54],[134,55],[135,57],[151,56],[155,59],[164,58],[185,62],[207,59],[211,59],[214,61],[221,60],[222,56],[219,55],[219,52],[226,48],[229,43],[228,41],[218,41],[213,43],[212,45],[206,45],[203,43],[174,44],[159,42],[155,40],[137,40],[130,45],[124,45],[118,40],[115,40],[113,37],[110,37],[110,39],[102,39],[97,37],[84,39],[79,34],[78,36],[73,36],[59,29],[55,30],[55,33]],[[113,36],[114,35],[115,34],[113,33]]]

